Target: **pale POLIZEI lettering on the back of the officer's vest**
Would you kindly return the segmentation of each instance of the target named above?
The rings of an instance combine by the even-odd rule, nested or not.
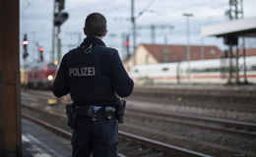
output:
[[[70,77],[94,77],[96,76],[95,67],[69,68]]]

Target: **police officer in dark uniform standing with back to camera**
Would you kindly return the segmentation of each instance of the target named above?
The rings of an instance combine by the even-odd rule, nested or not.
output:
[[[117,50],[101,40],[107,32],[105,18],[99,13],[89,15],[84,32],[87,37],[81,45],[63,56],[52,91],[57,97],[70,93],[74,111],[81,113],[73,128],[72,156],[116,157],[118,128],[115,114],[108,111],[114,111],[111,102],[116,94],[129,96],[134,83]]]

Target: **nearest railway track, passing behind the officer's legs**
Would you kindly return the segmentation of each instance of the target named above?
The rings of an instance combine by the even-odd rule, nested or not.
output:
[[[36,113],[42,113],[44,115],[44,117],[48,117],[49,115],[51,115],[51,117],[55,117],[56,119],[62,119],[64,116],[58,113],[54,113],[54,112],[49,112],[49,111],[42,111],[40,109],[35,109],[29,106],[25,106],[23,105],[23,108],[32,110],[32,111],[36,111]],[[23,113],[23,117],[26,119],[29,119],[30,121],[43,126],[44,128],[53,131],[65,138],[71,139],[71,132],[70,131],[66,131],[64,129],[61,129],[59,127],[56,127],[53,124],[50,124],[48,122],[39,120],[38,118],[34,118],[32,116],[29,116],[26,113]],[[57,118],[59,117],[59,118]],[[167,144],[167,143],[163,143],[145,136],[141,136],[141,135],[136,135],[133,133],[129,133],[126,131],[119,131],[118,132],[119,136],[121,137],[121,140],[123,141],[127,141],[129,140],[129,142],[127,143],[122,143],[121,145],[121,152],[124,152],[124,154],[119,154],[120,157],[124,157],[124,156],[149,156],[151,155],[152,157],[154,156],[154,154],[157,156],[184,156],[184,157],[210,157],[210,155],[207,154],[203,154],[203,153],[199,153],[199,152],[195,152],[192,150],[188,150],[182,147],[178,147],[175,145],[171,145],[171,144]],[[132,144],[131,144],[132,142]],[[134,150],[132,150],[134,149]],[[127,151],[130,150],[130,151]],[[131,151],[132,150],[132,151]]]

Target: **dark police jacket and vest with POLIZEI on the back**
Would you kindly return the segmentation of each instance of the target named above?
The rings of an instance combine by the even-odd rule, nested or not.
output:
[[[130,95],[133,86],[117,50],[96,37],[87,37],[62,58],[52,91],[57,97],[70,93],[78,104],[97,105],[113,102],[115,93]]]

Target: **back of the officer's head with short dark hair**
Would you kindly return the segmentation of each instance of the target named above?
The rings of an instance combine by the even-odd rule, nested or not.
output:
[[[105,17],[99,13],[90,14],[86,19],[84,28],[88,36],[102,36],[106,29]]]

